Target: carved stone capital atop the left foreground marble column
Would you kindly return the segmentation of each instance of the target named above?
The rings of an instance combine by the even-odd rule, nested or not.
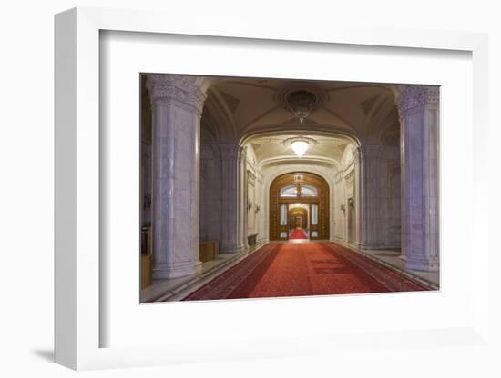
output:
[[[206,94],[194,76],[150,74],[147,88],[151,104],[174,104],[201,115]]]

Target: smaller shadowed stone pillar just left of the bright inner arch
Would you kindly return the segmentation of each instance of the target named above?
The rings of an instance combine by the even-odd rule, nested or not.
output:
[[[243,147],[238,144],[218,144],[221,159],[221,254],[240,252],[242,242],[243,197],[241,156]],[[244,166],[245,169],[245,166]],[[246,213],[244,213],[246,214]]]

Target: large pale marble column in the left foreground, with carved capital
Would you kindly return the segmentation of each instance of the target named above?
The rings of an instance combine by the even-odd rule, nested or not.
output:
[[[148,75],[152,105],[153,277],[199,268],[199,127],[205,94],[194,78]]]

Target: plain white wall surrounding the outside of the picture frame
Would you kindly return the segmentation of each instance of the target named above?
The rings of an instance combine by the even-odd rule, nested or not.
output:
[[[39,4],[40,3],[40,4]],[[336,4],[330,2],[249,2],[237,9],[237,2],[195,2],[184,0],[175,5],[153,1],[18,1],[3,5],[0,14],[2,38],[2,87],[0,117],[2,138],[0,154],[3,172],[1,187],[1,251],[3,312],[0,322],[2,363],[4,376],[66,376],[74,374],[50,362],[53,340],[53,15],[76,5],[162,8],[173,16],[181,14],[187,22],[190,14],[206,15],[214,20],[214,28],[225,23],[238,23],[245,16],[260,25],[297,23],[306,27],[309,22],[349,22],[360,24],[395,25],[401,27],[465,30],[490,33],[490,117],[491,124],[501,124],[496,104],[501,104],[495,87],[500,85],[501,29],[499,11],[495,2],[443,1],[357,1]],[[173,3],[173,2],[172,2]],[[179,3],[179,4],[178,4]],[[204,4],[206,3],[206,4]],[[194,17],[196,18],[196,17]],[[166,20],[167,22],[168,20]],[[494,174],[500,163],[496,140],[498,129],[486,143],[491,144],[490,164],[492,179],[491,214],[499,209],[494,198],[501,192]],[[467,201],[467,199],[466,199]],[[501,211],[500,213],[501,214]],[[499,223],[491,215],[493,235]],[[495,222],[497,222],[495,224]],[[497,231],[498,233],[499,231]],[[495,248],[491,244],[491,248]],[[496,257],[490,263],[501,266]],[[492,293],[499,295],[499,278],[493,276]],[[496,306],[492,334],[499,341],[499,300]],[[397,315],[398,316],[398,315]],[[497,322],[496,322],[497,319]],[[497,351],[499,355],[499,351]],[[277,374],[304,376],[339,374],[361,376],[368,373],[381,376],[495,376],[499,375],[494,350],[482,353],[480,349],[438,348],[427,350],[416,345],[413,350],[394,350],[393,355],[374,352],[353,358],[318,358],[315,355],[269,361],[235,363],[206,363],[86,373],[92,376],[273,376]],[[496,372],[495,372],[496,370]]]

